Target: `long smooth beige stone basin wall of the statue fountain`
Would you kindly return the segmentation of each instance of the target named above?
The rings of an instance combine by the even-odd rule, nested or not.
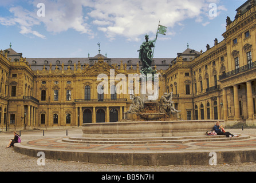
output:
[[[83,137],[91,138],[136,138],[136,137],[172,137],[172,136],[205,136],[216,122],[226,126],[224,120],[194,121],[139,121],[108,122],[83,124]]]

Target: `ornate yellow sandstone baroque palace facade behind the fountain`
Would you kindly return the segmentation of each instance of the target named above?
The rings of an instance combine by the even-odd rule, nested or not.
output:
[[[174,93],[183,120],[225,120],[256,125],[256,6],[247,1],[234,21],[227,17],[223,41],[176,58],[154,58],[159,72],[159,99]],[[140,74],[138,58],[24,58],[11,49],[0,54],[0,130],[81,126],[124,119],[131,94],[98,93],[101,73]],[[128,81],[127,81],[128,82]],[[117,84],[118,81],[115,81]],[[101,87],[99,89],[102,89]],[[112,93],[112,94],[111,94]],[[140,94],[135,94],[139,96]]]

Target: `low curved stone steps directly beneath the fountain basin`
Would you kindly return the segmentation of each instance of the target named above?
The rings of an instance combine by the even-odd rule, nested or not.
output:
[[[244,140],[250,136],[242,135],[239,137],[227,138],[226,136],[184,136],[184,137],[143,137],[143,138],[87,138],[87,137],[68,137],[63,138],[62,142],[77,144],[186,144],[189,142],[207,141],[234,141]]]

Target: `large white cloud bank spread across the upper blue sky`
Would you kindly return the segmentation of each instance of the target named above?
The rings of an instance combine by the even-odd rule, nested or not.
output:
[[[93,31],[95,28],[109,39],[121,35],[129,41],[139,41],[141,35],[156,33],[159,20],[168,28],[182,26],[181,22],[188,18],[202,23],[212,2],[219,3],[219,0],[27,0],[33,10],[13,6],[9,9],[13,16],[0,17],[0,23],[16,25],[21,34],[40,38],[45,35],[33,30],[34,26],[44,25],[50,33],[73,29],[90,38],[97,34]],[[45,4],[45,17],[37,17],[38,3]],[[226,9],[219,6],[219,10]]]

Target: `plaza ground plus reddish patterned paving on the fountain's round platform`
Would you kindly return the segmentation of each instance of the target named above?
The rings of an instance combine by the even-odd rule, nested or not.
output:
[[[129,150],[206,150],[208,148],[220,149],[256,149],[256,129],[227,129],[234,134],[241,134],[241,137],[250,136],[241,140],[233,141],[210,141],[210,142],[189,142],[184,144],[87,144],[86,148],[91,150],[104,151],[126,151]],[[19,133],[19,132],[18,132]],[[68,136],[67,136],[68,135]],[[81,128],[56,129],[56,130],[27,130],[21,131],[22,142],[26,142],[28,146],[40,146],[44,148],[56,149],[81,149],[85,148],[84,144],[73,144],[62,142],[67,137],[82,136]],[[23,172],[254,172],[256,170],[255,162],[246,163],[223,163],[216,166],[212,165],[168,165],[168,166],[141,166],[141,165],[115,165],[115,164],[92,164],[80,161],[63,161],[63,160],[45,160],[45,166],[37,164],[39,157],[30,157],[14,151],[13,148],[6,149],[10,138],[13,138],[13,132],[0,133],[0,171],[10,172],[16,171],[15,165],[19,165],[19,170]],[[209,157],[210,158],[210,157]]]

